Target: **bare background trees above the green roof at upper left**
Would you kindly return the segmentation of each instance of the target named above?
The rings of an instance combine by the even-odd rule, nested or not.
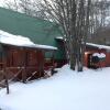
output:
[[[6,0],[4,7],[35,18],[45,19],[46,16],[44,9],[38,6],[38,0]]]

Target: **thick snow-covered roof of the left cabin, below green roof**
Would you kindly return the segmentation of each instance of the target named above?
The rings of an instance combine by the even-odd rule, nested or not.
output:
[[[57,50],[57,47],[54,46],[34,44],[29,37],[24,37],[21,35],[13,35],[1,30],[0,30],[0,43],[14,46],[23,46],[23,47]]]

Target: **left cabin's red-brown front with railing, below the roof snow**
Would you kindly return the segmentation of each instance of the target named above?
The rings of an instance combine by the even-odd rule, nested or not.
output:
[[[1,43],[0,88],[7,87],[7,94],[9,94],[9,84],[11,81],[28,82],[32,79],[53,75],[55,51],[55,48],[47,46],[16,46]],[[45,53],[52,53],[50,65],[47,65]]]

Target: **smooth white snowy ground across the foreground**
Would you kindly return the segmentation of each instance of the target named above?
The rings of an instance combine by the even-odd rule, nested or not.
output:
[[[110,68],[72,72],[68,66],[48,79],[13,84],[0,91],[2,110],[110,110]]]

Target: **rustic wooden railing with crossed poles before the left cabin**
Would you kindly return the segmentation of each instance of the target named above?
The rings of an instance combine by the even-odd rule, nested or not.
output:
[[[0,70],[0,87],[7,88],[9,94],[9,84],[15,81],[21,76],[20,81],[28,82],[32,79],[44,77],[47,78],[53,75],[54,66],[44,67],[43,72],[40,72],[37,67],[3,67]],[[29,73],[30,72],[30,73]],[[50,73],[50,74],[48,74]]]

